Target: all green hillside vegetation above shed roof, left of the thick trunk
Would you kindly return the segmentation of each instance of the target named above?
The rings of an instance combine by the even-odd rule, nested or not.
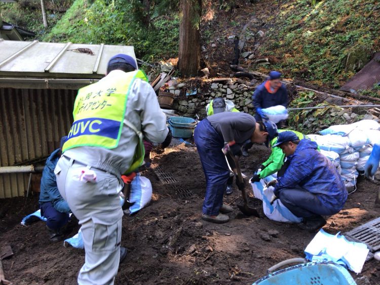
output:
[[[2,4],[2,16],[5,21],[37,31],[36,40],[133,45],[136,56],[148,61],[178,54],[178,1],[148,1],[146,9],[136,0],[74,0],[63,16],[48,10],[47,30],[40,1],[33,7],[25,3]]]

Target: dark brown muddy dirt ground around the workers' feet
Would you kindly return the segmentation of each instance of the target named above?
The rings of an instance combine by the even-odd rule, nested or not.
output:
[[[265,147],[254,146],[250,157],[242,159],[243,173],[250,175],[268,155]],[[237,188],[224,197],[235,208],[229,223],[200,219],[205,179],[195,147],[181,144],[153,153],[152,167],[158,165],[178,183],[163,185],[153,169],[143,172],[153,184],[154,195],[146,208],[123,218],[122,245],[129,252],[119,267],[116,284],[252,284],[272,265],[304,257],[303,250],[315,233],[267,218],[242,216],[236,207],[242,202]],[[360,181],[345,208],[328,219],[324,230],[346,232],[379,217],[380,209],[374,207],[378,187]],[[19,285],[75,284],[84,251],[50,242],[42,221],[20,225],[25,215],[38,208],[37,201],[36,193],[26,202],[24,198],[0,201],[1,246],[9,244],[14,252],[3,260],[5,276]],[[68,238],[78,229],[72,221],[63,232]],[[379,265],[372,259],[353,277],[366,276],[372,285],[380,284]]]

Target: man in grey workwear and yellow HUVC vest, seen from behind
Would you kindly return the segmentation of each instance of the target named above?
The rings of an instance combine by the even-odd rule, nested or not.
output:
[[[166,117],[145,74],[126,54],[113,56],[106,76],[78,91],[74,122],[54,173],[62,197],[79,219],[86,258],[79,284],[113,284],[119,263],[123,210],[121,175],[139,167],[143,139],[161,143]]]

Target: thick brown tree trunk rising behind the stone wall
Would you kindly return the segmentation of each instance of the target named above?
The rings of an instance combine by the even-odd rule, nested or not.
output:
[[[201,62],[199,25],[202,0],[181,0],[178,69],[182,76],[196,76]]]

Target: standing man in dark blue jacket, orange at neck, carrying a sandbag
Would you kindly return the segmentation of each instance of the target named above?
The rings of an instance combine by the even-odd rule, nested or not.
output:
[[[283,105],[288,106],[288,91],[281,83],[282,74],[277,71],[271,71],[269,77],[253,92],[253,106],[256,110],[255,119],[257,121],[268,121],[268,117],[261,111],[262,109]],[[281,123],[281,122],[280,122]],[[280,123],[277,123],[277,128],[280,128]]]

